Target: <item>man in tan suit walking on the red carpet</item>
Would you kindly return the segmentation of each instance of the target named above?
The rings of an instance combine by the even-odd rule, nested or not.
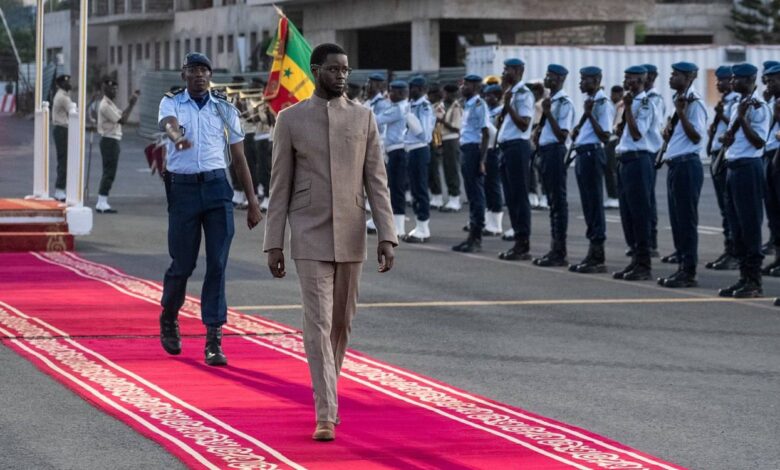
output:
[[[276,121],[263,250],[274,277],[284,277],[289,221],[317,414],[312,438],[331,441],[339,422],[336,381],[366,257],[364,189],[378,232],[379,272],[392,268],[398,239],[374,115],[343,96],[347,55],[340,46],[321,44],[310,62],[314,95]]]

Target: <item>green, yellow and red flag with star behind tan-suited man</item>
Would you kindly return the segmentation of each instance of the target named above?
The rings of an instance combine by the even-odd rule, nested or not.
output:
[[[314,77],[309,70],[311,46],[281,11],[279,14],[276,37],[267,51],[274,62],[263,94],[274,114],[314,93]]]

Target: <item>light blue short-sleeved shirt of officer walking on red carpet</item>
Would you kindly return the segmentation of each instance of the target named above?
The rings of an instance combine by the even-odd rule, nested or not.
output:
[[[229,134],[229,144],[244,140],[238,110],[211,93],[208,103],[200,109],[187,90],[173,98],[164,96],[160,101],[157,122],[170,116],[179,121],[179,126],[184,128],[184,138],[192,143],[192,147],[178,150],[168,139],[166,168],[171,173],[192,174],[224,169],[225,128]]]

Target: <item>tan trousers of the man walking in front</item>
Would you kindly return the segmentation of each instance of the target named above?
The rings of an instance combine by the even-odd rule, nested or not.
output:
[[[317,421],[336,422],[336,382],[357,310],[363,263],[295,260],[303,298],[303,345]]]

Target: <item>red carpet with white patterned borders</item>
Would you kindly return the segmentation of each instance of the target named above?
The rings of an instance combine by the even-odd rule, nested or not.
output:
[[[226,368],[202,362],[197,301],[180,356],[158,284],[71,253],[0,255],[0,340],[193,468],[678,469],[583,429],[350,352],[337,440],[317,443],[300,335],[231,312]]]

